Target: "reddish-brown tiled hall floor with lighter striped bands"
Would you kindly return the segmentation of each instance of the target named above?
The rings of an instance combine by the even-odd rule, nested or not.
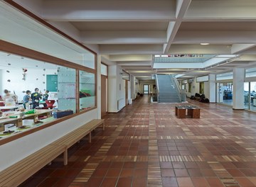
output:
[[[191,101],[200,119],[178,119],[174,103],[137,98],[21,186],[256,186],[256,114]]]

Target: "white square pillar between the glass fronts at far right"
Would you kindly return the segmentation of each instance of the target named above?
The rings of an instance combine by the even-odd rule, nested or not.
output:
[[[233,69],[233,109],[244,109],[245,69]]]

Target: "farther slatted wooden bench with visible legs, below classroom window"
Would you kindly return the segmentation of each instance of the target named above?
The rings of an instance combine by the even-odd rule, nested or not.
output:
[[[55,142],[51,143],[50,145],[64,145],[65,152],[64,152],[64,165],[68,164],[68,148],[73,146],[76,142],[79,142],[82,137],[89,135],[89,142],[92,142],[92,130],[95,130],[97,127],[102,125],[103,130],[105,130],[105,120],[104,119],[97,119],[91,120],[85,125],[82,125],[80,128],[73,130],[72,132],[68,133],[63,137],[60,137]]]

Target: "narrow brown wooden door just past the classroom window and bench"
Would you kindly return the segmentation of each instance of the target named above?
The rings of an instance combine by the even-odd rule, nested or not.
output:
[[[107,76],[101,76],[101,116],[107,114]]]

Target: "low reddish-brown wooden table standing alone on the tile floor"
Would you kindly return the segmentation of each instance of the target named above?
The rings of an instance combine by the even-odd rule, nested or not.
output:
[[[175,115],[178,118],[186,118],[186,116],[191,118],[200,118],[200,108],[189,105],[175,106]]]

